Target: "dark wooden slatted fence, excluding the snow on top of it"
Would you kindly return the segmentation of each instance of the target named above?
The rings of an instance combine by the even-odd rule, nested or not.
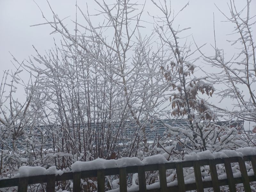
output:
[[[250,161],[254,175],[247,174],[245,162]],[[241,177],[234,178],[231,163],[238,163]],[[224,164],[227,179],[219,179],[216,169],[216,164]],[[203,181],[200,166],[209,165],[211,180]],[[195,183],[185,184],[183,168],[194,167]],[[177,185],[167,187],[166,170],[176,169]],[[157,171],[159,172],[160,188],[147,189],[145,172]],[[28,185],[36,183],[46,183],[46,191],[55,191],[55,182],[63,180],[73,180],[73,191],[81,190],[81,178],[97,177],[98,192],[105,191],[105,176],[119,175],[120,191],[127,192],[127,174],[138,173],[139,192],[164,192],[164,191],[179,191],[185,192],[188,190],[197,190],[203,192],[204,188],[213,188],[214,192],[220,192],[220,186],[228,186],[231,192],[236,191],[236,184],[243,183],[244,191],[251,191],[250,182],[256,181],[256,156],[242,157],[228,157],[217,158],[212,160],[197,160],[197,161],[182,161],[171,162],[165,164],[148,164],[143,166],[127,166],[122,168],[108,168],[104,170],[90,170],[82,172],[66,172],[62,175],[38,175],[23,178],[12,178],[0,180],[0,188],[18,186],[18,192],[25,192]]]

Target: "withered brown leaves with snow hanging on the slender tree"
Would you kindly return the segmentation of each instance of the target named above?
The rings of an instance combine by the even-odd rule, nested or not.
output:
[[[186,70],[184,70],[184,67]],[[198,99],[198,94],[201,92],[202,94],[206,94],[212,97],[214,92],[214,87],[212,84],[204,82],[201,79],[194,78],[193,80],[189,80],[190,82],[185,83],[185,87],[183,84],[184,79],[182,79],[182,75],[184,77],[190,76],[190,72],[193,74],[195,65],[190,62],[180,63],[177,66],[173,61],[170,63],[171,68],[167,67],[165,70],[163,66],[161,66],[162,74],[167,82],[171,84],[172,90],[176,91],[172,93],[169,97],[170,102],[172,103],[172,116],[185,116],[189,114],[188,108],[190,111],[196,110],[200,114],[204,114],[202,116],[203,119],[212,120],[213,117],[211,115],[211,110],[206,105],[204,99]],[[175,71],[179,72],[179,83],[172,81],[173,74]]]

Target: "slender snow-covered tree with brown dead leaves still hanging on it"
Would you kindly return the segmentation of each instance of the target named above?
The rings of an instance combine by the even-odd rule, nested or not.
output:
[[[197,57],[193,58],[195,56],[194,52],[191,52],[191,44],[186,44],[187,39],[185,43],[180,44],[184,39],[180,37],[190,28],[175,30],[174,16],[169,11],[170,4],[166,2],[157,4],[154,1],[153,3],[163,14],[154,18],[159,42],[165,50],[164,55],[168,55],[167,58],[162,58],[164,64],[161,70],[164,79],[170,84],[171,117],[187,122],[186,126],[180,125],[180,127],[166,124],[170,136],[166,140],[175,138],[174,143],[178,141],[186,153],[192,150],[215,151],[226,148],[226,143],[236,139],[234,134],[237,130],[235,128],[229,130],[228,127],[223,129],[217,125],[218,116],[203,97],[204,93],[212,97],[215,89],[213,83],[208,81],[208,76],[195,76],[196,63],[199,60]],[[222,139],[220,136],[223,136]]]

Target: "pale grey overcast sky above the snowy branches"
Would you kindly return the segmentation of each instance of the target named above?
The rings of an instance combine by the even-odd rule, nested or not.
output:
[[[44,16],[48,20],[52,19],[52,13],[46,0],[35,0],[44,13]],[[112,1],[112,0],[111,0]],[[137,1],[137,0],[136,0]],[[134,2],[136,2],[134,1]],[[101,2],[99,0],[99,2]],[[108,0],[107,2],[110,2]],[[144,1],[139,1],[144,2]],[[157,1],[156,1],[157,2]],[[178,12],[188,1],[172,0],[172,10]],[[28,59],[30,55],[36,55],[32,45],[36,49],[43,53],[45,50],[49,50],[53,47],[53,37],[56,42],[59,43],[61,36],[59,34],[50,33],[53,29],[49,25],[40,25],[36,27],[29,27],[39,23],[45,23],[46,21],[42,17],[42,14],[37,7],[36,3],[32,0],[0,0],[0,78],[2,79],[3,71],[7,69],[14,69],[12,66],[11,52],[15,58],[21,62],[24,59]],[[71,20],[75,19],[76,1],[75,0],[49,0],[52,9],[58,14],[60,19],[64,19],[64,23],[68,24],[69,29],[74,29],[75,25]],[[89,13],[96,13],[96,9],[100,9],[99,6],[92,0],[78,0],[77,4],[81,9],[86,12],[86,3],[88,4]],[[234,48],[230,47],[230,44],[226,41],[229,39],[227,34],[232,33],[234,25],[225,21],[226,18],[218,11],[214,3],[225,12],[230,15],[227,0],[191,0],[189,5],[180,13],[175,20],[175,25],[180,28],[191,27],[188,34],[192,34],[196,40],[196,43],[202,45],[208,43],[204,48],[205,52],[214,53],[210,44],[214,44],[213,36],[213,12],[215,14],[215,30],[217,46],[223,48],[227,56],[233,54]],[[246,0],[237,0],[236,7],[240,10],[245,6]],[[150,1],[146,1],[145,11],[143,13],[143,20],[149,19],[148,13],[151,15],[159,15],[160,12],[156,6]],[[250,15],[256,14],[256,1],[252,0]],[[96,20],[95,23],[100,22]],[[149,20],[150,21],[150,20]],[[84,20],[81,15],[78,15],[78,23],[83,24]],[[255,34],[255,25],[254,36]],[[142,31],[147,33],[148,28]],[[150,31],[150,30],[149,30]],[[202,65],[202,63],[201,63]],[[26,78],[26,76],[24,76]]]

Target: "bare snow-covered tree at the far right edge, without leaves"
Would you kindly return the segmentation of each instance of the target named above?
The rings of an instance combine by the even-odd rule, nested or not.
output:
[[[247,1],[242,9],[237,9],[234,2],[230,2],[229,10],[231,15],[225,15],[228,22],[234,25],[234,30],[230,34],[230,45],[237,50],[231,58],[225,57],[226,50],[218,47],[215,40],[214,56],[206,56],[204,59],[211,66],[217,68],[216,72],[208,73],[215,84],[225,85],[218,92],[221,98],[229,98],[234,101],[234,109],[227,110],[218,108],[223,112],[228,112],[233,116],[246,121],[256,122],[256,96],[255,96],[255,44],[252,36],[252,26],[255,24],[254,15],[250,14],[251,1]],[[214,29],[215,36],[215,29]],[[217,37],[218,38],[218,37]],[[200,50],[200,49],[199,49]]]

